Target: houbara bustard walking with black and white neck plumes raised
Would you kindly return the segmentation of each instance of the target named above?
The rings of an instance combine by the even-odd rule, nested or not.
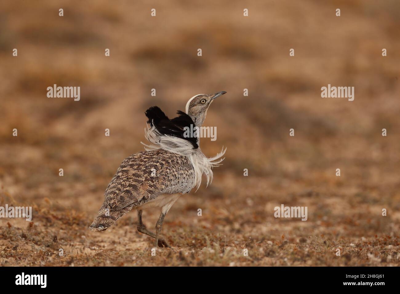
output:
[[[122,162],[107,186],[104,203],[90,226],[92,231],[106,230],[134,208],[138,211],[138,231],[155,238],[155,246],[171,247],[160,232],[165,215],[180,197],[176,193],[198,189],[202,174],[206,175],[208,185],[212,181],[212,167],[223,160],[226,148],[212,158],[203,154],[198,130],[208,107],[225,93],[193,96],[186,103],[186,113],[178,111],[179,116],[172,120],[157,106],[146,110],[145,137],[151,145],[142,143],[146,151],[132,154]],[[197,132],[188,136],[188,129]],[[142,222],[142,210],[154,207],[161,208],[156,233],[147,230]]]

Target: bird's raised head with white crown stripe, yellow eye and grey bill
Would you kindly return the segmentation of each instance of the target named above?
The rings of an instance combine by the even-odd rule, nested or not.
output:
[[[226,92],[221,91],[215,94],[198,94],[189,99],[186,103],[186,114],[188,114],[194,124],[198,127],[202,126],[206,118],[207,109],[215,98],[224,95]]]

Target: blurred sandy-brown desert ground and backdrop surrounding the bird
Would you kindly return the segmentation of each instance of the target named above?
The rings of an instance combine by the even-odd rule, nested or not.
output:
[[[398,265],[399,27],[397,0],[2,1],[0,205],[34,214],[0,219],[0,264]],[[80,101],[48,98],[53,84]],[[328,84],[354,101],[321,98]],[[90,232],[116,169],[144,150],[144,111],[174,117],[219,91],[204,124],[217,140],[201,148],[226,159],[166,216],[174,250],[151,257],[134,212]],[[274,218],[280,204],[308,220]]]

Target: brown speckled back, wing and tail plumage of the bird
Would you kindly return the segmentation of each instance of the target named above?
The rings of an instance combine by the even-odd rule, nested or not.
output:
[[[194,170],[188,158],[163,149],[138,152],[125,158],[104,193],[104,203],[92,225],[109,227],[135,206],[158,195],[188,193]],[[106,216],[107,209],[110,216]]]

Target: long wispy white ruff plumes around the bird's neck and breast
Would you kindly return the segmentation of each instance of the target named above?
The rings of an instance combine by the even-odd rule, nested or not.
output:
[[[212,168],[214,166],[220,166],[222,160],[225,159],[221,157],[225,154],[226,148],[224,149],[222,147],[222,151],[218,153],[216,156],[207,158],[201,152],[196,152],[196,149],[193,149],[192,143],[190,143],[188,140],[184,140],[182,138],[177,138],[174,136],[160,134],[160,132],[157,131],[155,126],[150,127],[149,125],[147,125],[147,128],[144,129],[144,136],[150,143],[153,144],[153,145],[147,145],[144,144],[143,142],[140,142],[144,145],[146,151],[156,150],[161,148],[169,152],[186,156],[193,166],[194,186],[197,186],[197,189],[200,187],[202,174],[205,174],[207,177],[207,186],[208,184],[211,184],[213,178]]]

